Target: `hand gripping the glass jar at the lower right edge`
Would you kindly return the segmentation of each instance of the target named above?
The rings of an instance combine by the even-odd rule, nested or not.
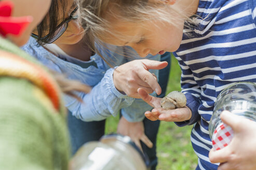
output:
[[[210,150],[212,163],[220,162],[219,170],[256,169],[256,122],[223,111],[223,123],[230,125],[234,131],[231,143],[220,150]]]

